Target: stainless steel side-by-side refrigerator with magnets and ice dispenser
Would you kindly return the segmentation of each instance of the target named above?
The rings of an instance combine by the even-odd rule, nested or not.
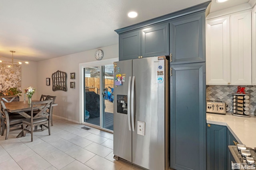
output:
[[[169,61],[114,62],[114,158],[149,170],[169,167]]]

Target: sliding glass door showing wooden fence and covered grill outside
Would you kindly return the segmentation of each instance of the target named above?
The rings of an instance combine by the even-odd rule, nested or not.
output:
[[[84,66],[82,72],[83,124],[113,131],[114,65]]]

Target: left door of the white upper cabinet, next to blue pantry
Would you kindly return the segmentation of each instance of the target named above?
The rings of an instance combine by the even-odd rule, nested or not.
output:
[[[206,84],[230,84],[230,17],[206,21]]]

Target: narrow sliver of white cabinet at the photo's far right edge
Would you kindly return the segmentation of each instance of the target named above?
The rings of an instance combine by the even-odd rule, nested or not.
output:
[[[256,85],[256,6],[252,10],[252,85]]]

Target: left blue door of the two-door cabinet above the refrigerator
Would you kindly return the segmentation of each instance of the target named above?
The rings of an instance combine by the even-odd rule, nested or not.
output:
[[[140,30],[119,35],[119,61],[138,59],[141,56]]]

